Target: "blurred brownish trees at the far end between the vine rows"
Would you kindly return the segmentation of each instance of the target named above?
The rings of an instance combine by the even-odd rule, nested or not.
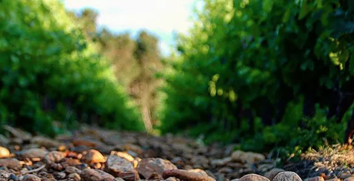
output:
[[[156,70],[162,67],[158,39],[146,31],[133,40],[129,33],[115,35],[107,28],[98,30],[98,13],[92,9],[84,9],[78,14],[68,13],[82,24],[87,38],[99,43],[99,51],[110,59],[116,78],[141,106],[145,127],[152,130],[157,88],[162,83],[155,78]]]

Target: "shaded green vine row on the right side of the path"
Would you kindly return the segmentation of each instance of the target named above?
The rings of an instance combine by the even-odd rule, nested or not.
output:
[[[189,129],[257,151],[342,138],[349,118],[337,124],[326,116],[329,105],[341,108],[339,94],[354,93],[346,7],[337,0],[202,2],[194,27],[179,35],[172,73],[163,76],[162,133]]]

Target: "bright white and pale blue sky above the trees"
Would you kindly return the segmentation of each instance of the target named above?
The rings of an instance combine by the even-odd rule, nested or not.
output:
[[[160,39],[167,55],[173,45],[173,31],[185,33],[190,25],[194,0],[64,0],[68,9],[94,8],[98,25],[114,32],[131,31],[132,36],[145,29]]]

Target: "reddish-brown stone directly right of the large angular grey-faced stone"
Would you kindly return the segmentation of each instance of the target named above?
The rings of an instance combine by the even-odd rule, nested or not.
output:
[[[137,167],[139,174],[143,175],[145,179],[149,178],[153,173],[162,176],[165,170],[173,169],[177,169],[176,165],[162,158],[144,158],[138,163]]]

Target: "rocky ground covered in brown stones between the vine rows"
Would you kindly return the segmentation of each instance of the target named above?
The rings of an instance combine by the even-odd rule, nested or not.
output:
[[[0,181],[354,181],[353,151],[340,146],[309,152],[279,168],[271,155],[170,135],[82,127],[49,139],[5,129]]]

